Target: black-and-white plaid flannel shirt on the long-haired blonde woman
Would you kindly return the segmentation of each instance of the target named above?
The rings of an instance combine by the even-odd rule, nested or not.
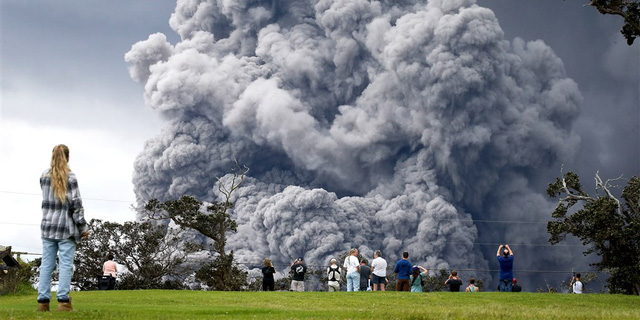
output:
[[[47,239],[64,240],[74,238],[80,242],[82,233],[87,231],[84,220],[84,208],[78,189],[78,180],[73,172],[69,172],[67,182],[67,200],[61,202],[56,198],[51,187],[51,169],[42,173],[40,187],[42,188],[42,237]]]

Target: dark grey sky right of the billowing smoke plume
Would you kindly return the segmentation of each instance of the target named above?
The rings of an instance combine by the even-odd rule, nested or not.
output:
[[[622,18],[602,15],[587,1],[483,0],[506,39],[541,39],[565,64],[583,94],[574,130],[581,137],[565,170],[592,181],[640,174],[640,46],[620,34]]]

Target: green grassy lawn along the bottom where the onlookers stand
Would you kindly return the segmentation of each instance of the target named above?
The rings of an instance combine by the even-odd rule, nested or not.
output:
[[[73,313],[35,298],[0,296],[0,319],[640,319],[640,297],[607,294],[87,291]]]

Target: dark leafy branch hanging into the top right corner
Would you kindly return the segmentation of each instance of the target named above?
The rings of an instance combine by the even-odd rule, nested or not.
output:
[[[640,36],[640,2],[638,0],[591,0],[591,6],[602,14],[613,14],[624,19],[620,31],[627,44],[632,45],[636,37]]]

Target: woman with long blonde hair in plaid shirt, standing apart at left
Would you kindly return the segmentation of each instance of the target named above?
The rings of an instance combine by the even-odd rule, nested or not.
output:
[[[71,274],[76,243],[89,236],[78,180],[69,169],[69,148],[63,144],[53,148],[51,168],[40,176],[42,189],[42,264],[38,284],[38,311],[49,311],[51,274],[58,266],[58,311],[71,311]]]

